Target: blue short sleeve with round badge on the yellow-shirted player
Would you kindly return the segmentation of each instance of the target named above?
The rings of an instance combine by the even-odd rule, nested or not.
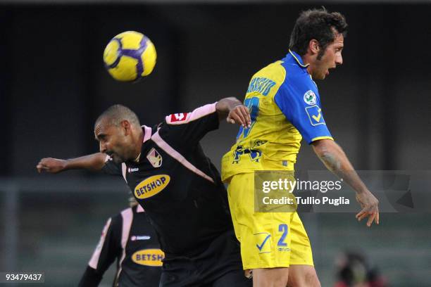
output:
[[[320,108],[316,84],[308,75],[287,77],[274,100],[308,144],[319,139],[332,139]]]

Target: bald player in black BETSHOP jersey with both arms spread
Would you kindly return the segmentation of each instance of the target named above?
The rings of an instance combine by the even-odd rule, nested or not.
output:
[[[199,144],[224,118],[243,127],[251,123],[248,108],[236,98],[168,115],[152,128],[141,127],[132,110],[115,105],[94,125],[101,153],[44,158],[37,169],[123,175],[165,253],[160,286],[251,286],[242,271],[225,187]]]

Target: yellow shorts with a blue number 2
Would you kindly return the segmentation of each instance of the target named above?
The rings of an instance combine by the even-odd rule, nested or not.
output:
[[[314,266],[298,213],[254,212],[254,173],[233,176],[227,192],[244,269]]]

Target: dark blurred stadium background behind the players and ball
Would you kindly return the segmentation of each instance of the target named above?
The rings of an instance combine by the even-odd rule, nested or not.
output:
[[[349,23],[344,65],[317,82],[332,135],[357,170],[429,170],[429,1],[0,0],[0,272],[44,271],[43,286],[76,286],[106,219],[127,208],[122,179],[39,175],[40,158],[98,151],[94,120],[114,103],[154,125],[242,99],[251,75],[287,53],[299,13],[322,5]],[[102,61],[125,30],[149,36],[158,53],[136,84],[115,82]],[[202,142],[218,167],[236,133],[223,123]],[[324,169],[304,142],[296,168]],[[430,213],[385,213],[370,229],[350,213],[302,218],[322,286],[334,286],[346,249],[390,286],[431,286]]]

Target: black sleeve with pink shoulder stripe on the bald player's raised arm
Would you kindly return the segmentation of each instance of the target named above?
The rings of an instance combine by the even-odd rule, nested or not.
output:
[[[175,113],[165,117],[159,133],[180,146],[196,145],[208,133],[218,129],[218,113],[215,104],[196,108],[191,113]]]

